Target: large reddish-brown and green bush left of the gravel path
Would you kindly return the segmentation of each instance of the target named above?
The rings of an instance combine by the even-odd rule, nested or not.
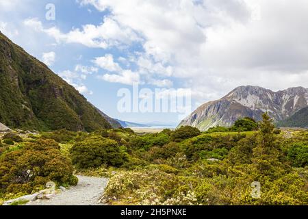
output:
[[[31,193],[47,181],[73,183],[73,166],[59,149],[54,140],[37,140],[5,153],[0,159],[0,192]]]

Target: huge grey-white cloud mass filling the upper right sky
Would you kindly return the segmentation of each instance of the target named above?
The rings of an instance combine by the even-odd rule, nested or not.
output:
[[[144,51],[133,57],[140,77],[178,79],[200,102],[247,84],[308,87],[305,0],[79,2],[142,37]]]

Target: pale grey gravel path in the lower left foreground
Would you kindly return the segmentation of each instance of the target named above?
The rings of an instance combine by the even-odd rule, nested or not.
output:
[[[107,186],[107,178],[77,176],[76,186],[57,194],[49,200],[38,200],[27,205],[103,205],[99,198]]]

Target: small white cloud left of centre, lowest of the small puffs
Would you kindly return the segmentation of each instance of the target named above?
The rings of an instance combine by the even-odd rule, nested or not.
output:
[[[123,83],[133,85],[133,83],[140,83],[140,75],[131,70],[122,70],[119,74],[105,74],[99,76],[99,79],[112,83]]]

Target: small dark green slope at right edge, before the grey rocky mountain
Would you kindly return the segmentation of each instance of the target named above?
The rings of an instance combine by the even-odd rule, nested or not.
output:
[[[308,128],[308,107],[298,110],[298,112],[285,120],[279,121],[277,126]]]

